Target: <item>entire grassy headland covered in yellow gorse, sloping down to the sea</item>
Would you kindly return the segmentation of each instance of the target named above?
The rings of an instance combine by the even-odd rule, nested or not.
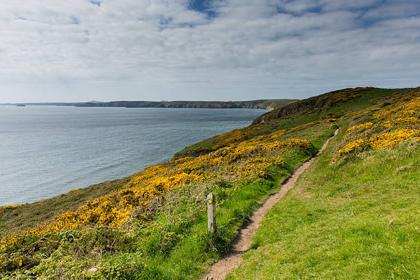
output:
[[[364,266],[352,266],[362,259],[373,277],[384,275],[384,270],[373,268],[397,262],[408,272],[396,266],[392,270],[396,278],[412,276],[419,261],[413,255],[419,244],[415,226],[419,211],[412,203],[419,200],[419,96],[419,89],[326,93],[272,110],[252,126],[192,145],[172,161],[128,178],[30,205],[3,207],[0,276],[197,279],[226,253],[250,213],[314,155],[337,127],[341,141],[334,140],[336,147],[330,144],[312,172],[306,172],[285,202],[269,213],[255,237],[256,250],[248,253],[242,270],[230,277],[302,279],[313,272],[325,279],[341,277],[339,268],[349,267],[350,279],[369,278],[361,269]],[[377,167],[373,174],[368,163]],[[390,172],[400,163],[404,165],[399,172]],[[386,173],[383,178],[381,172]],[[396,186],[397,198],[385,200]],[[209,192],[218,197],[218,233],[211,236],[206,230]],[[382,220],[389,220],[388,215],[401,217],[395,237],[408,234],[408,239],[385,246],[382,242],[390,235],[380,234],[383,227],[373,228],[377,234],[368,231],[378,207],[388,209]],[[386,229],[398,226],[399,221]],[[365,227],[358,230],[357,226]],[[355,247],[358,242],[363,246]],[[377,247],[369,242],[376,242]],[[278,248],[283,244],[289,247]],[[365,251],[369,248],[375,254]],[[328,263],[330,253],[336,258]],[[270,258],[264,259],[265,254]],[[287,259],[287,254],[294,257]],[[264,264],[253,268],[261,261]]]

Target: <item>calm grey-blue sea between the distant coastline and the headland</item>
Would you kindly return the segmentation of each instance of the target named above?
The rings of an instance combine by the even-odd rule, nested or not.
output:
[[[131,175],[264,112],[0,106],[0,206]]]

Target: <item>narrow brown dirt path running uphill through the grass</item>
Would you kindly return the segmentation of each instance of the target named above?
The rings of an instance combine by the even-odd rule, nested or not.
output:
[[[335,137],[338,133],[338,129],[336,132],[334,132]],[[280,191],[276,194],[270,196],[268,200],[259,207],[257,211],[253,213],[253,215],[250,216],[250,220],[248,223],[244,224],[242,229],[237,233],[235,239],[232,242],[232,248],[229,250],[229,253],[223,258],[218,261],[216,261],[210,268],[210,272],[202,278],[202,280],[223,280],[226,275],[233,269],[237,268],[238,264],[240,264],[240,261],[242,260],[242,254],[245,253],[251,242],[251,238],[255,235],[257,232],[257,229],[259,228],[259,224],[261,223],[262,218],[267,213],[268,210],[271,209],[273,205],[277,201],[279,201],[283,196],[289,191],[289,189],[292,189],[294,184],[296,183],[297,178],[309,167],[316,157],[327,148],[327,145],[329,141],[333,138],[329,138],[327,141],[325,141],[323,147],[319,150],[319,152],[313,156],[310,160],[306,161],[299,167],[292,176],[286,180]]]

